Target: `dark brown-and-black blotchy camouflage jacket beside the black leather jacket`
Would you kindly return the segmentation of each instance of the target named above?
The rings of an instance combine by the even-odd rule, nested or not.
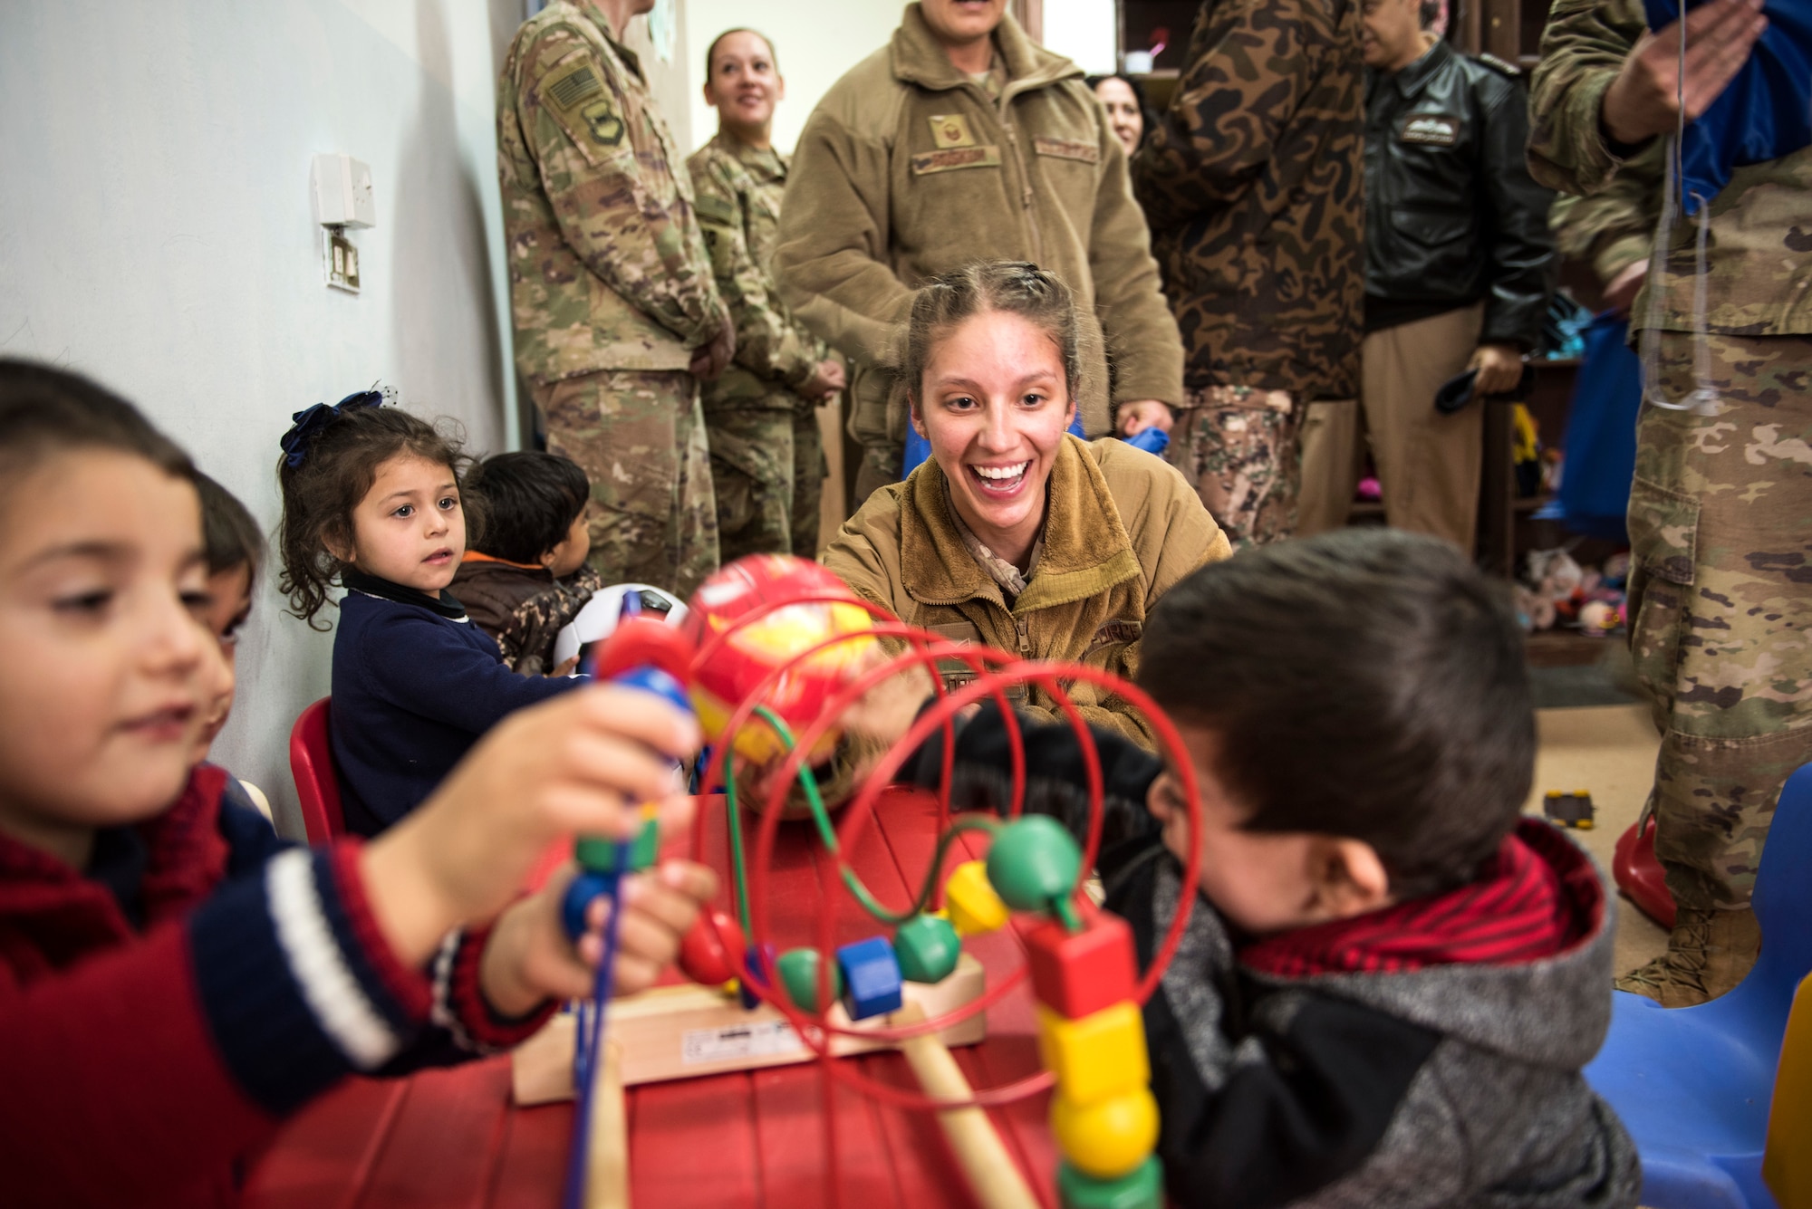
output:
[[[1359,391],[1359,0],[1209,0],[1132,159],[1190,387]]]

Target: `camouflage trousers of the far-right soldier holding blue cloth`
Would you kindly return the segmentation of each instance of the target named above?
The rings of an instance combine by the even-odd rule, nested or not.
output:
[[[1658,395],[1692,393],[1689,333]],[[1812,760],[1812,337],[1711,337],[1718,414],[1643,404],[1631,650],[1662,751],[1649,807],[1674,901],[1749,905],[1781,782]]]

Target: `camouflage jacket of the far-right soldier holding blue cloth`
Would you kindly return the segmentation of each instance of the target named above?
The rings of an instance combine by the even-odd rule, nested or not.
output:
[[[1642,0],[1555,0],[1542,31],[1542,62],[1529,90],[1529,174],[1569,194],[1596,195],[1622,176],[1631,148],[1613,147],[1600,123],[1605,89],[1647,24]],[[1643,156],[1656,152],[1640,148]],[[1636,186],[1636,194],[1645,186]],[[1812,333],[1812,147],[1738,168],[1701,210],[1705,328],[1725,335]],[[1658,208],[1658,206],[1656,206]],[[1649,291],[1663,288],[1660,328],[1694,331],[1698,219],[1678,223],[1662,282],[1651,281],[1631,308],[1645,328]]]

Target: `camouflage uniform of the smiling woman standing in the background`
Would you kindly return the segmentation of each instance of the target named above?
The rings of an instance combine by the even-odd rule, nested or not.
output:
[[[824,449],[817,402],[797,395],[830,351],[794,322],[774,282],[786,157],[718,134],[687,159],[736,364],[703,389],[723,561],[817,557]]]

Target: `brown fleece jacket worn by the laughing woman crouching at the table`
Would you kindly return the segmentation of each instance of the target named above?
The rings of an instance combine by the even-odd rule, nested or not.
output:
[[[870,496],[823,561],[906,624],[1132,679],[1145,615],[1183,576],[1229,557],[1227,536],[1174,467],[1113,438],[1065,436],[1046,490],[1044,554],[1011,608],[962,545],[935,458]],[[1091,684],[1069,697],[1089,722],[1154,747],[1122,699]],[[1029,711],[1051,709],[1033,690]]]

